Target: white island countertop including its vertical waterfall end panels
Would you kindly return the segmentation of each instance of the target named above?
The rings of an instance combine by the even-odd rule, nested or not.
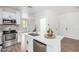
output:
[[[55,35],[55,38],[48,39],[45,38],[43,34],[40,34],[39,36],[31,36],[28,33],[22,34],[22,49],[26,51],[26,38],[30,37],[35,40],[38,40],[44,44],[47,45],[47,52],[60,52],[61,51],[61,40],[63,39],[63,36]],[[32,49],[32,48],[31,48]]]

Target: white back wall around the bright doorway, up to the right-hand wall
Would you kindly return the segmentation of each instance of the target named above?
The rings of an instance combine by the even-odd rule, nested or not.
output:
[[[35,20],[36,20],[36,25],[38,27],[38,31],[40,31],[40,26],[43,24],[40,24],[40,19],[46,19],[46,31],[48,29],[48,24],[50,27],[53,29],[53,31],[57,33],[57,28],[58,28],[58,22],[56,20],[57,15],[54,13],[52,10],[44,10],[42,12],[39,12],[35,15]],[[42,29],[43,30],[43,29]]]

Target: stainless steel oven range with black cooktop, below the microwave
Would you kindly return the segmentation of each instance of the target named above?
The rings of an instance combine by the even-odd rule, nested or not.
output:
[[[3,48],[17,43],[17,32],[15,30],[3,31]]]

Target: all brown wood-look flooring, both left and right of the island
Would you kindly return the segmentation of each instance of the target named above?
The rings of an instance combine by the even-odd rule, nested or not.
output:
[[[3,52],[24,52],[21,50],[21,43],[2,49]],[[61,52],[79,52],[79,40],[63,38],[61,40]]]

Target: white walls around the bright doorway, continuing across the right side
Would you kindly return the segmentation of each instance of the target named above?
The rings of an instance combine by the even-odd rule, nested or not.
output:
[[[40,19],[45,18],[47,24],[54,30],[56,34],[79,39],[79,12],[72,11],[62,14],[57,14],[52,10],[44,10],[35,15],[36,24],[38,31],[40,28]],[[41,25],[42,26],[42,25]],[[48,28],[48,27],[47,27]],[[46,29],[47,30],[47,29]]]

